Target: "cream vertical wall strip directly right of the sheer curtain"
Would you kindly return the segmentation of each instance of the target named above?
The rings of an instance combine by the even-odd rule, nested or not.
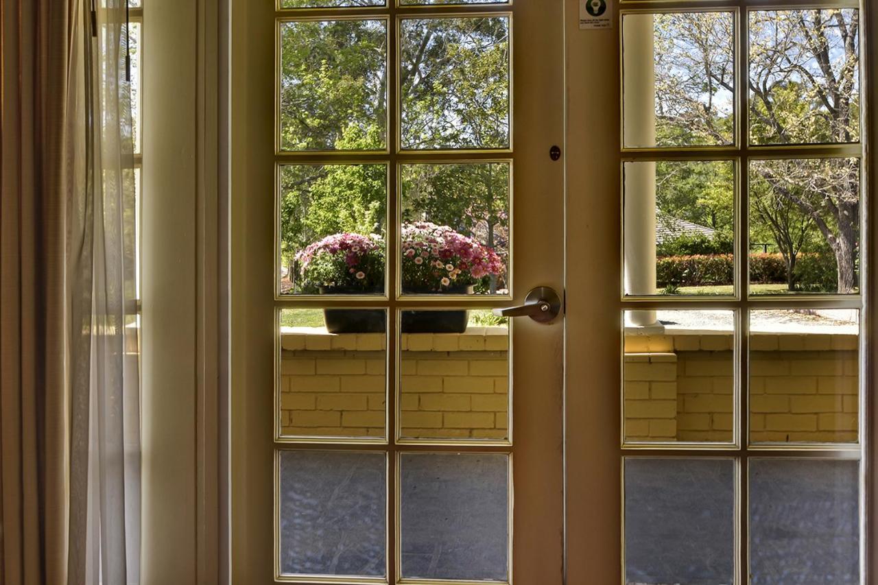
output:
[[[141,582],[194,583],[194,1],[149,0],[144,14],[143,515]],[[157,79],[160,83],[151,83]]]

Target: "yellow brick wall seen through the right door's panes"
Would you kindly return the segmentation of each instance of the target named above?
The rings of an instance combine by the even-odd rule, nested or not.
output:
[[[626,437],[637,441],[730,441],[734,395],[732,336],[628,336],[624,373]],[[750,356],[753,441],[848,442],[857,438],[857,338],[756,335]],[[638,351],[639,350],[639,351]],[[672,358],[673,356],[673,358]],[[675,366],[676,413],[667,418],[660,363]],[[663,387],[663,386],[659,386]]]

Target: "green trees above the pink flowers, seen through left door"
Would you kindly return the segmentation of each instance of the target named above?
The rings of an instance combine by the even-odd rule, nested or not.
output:
[[[385,42],[385,25],[378,20],[282,25],[282,148],[386,147]],[[507,18],[407,18],[399,42],[406,148],[508,145]],[[454,227],[501,256],[507,254],[506,163],[405,169],[406,219]],[[325,235],[383,233],[386,173],[383,164],[284,165],[279,179],[281,255],[288,271],[294,271],[296,251]]]

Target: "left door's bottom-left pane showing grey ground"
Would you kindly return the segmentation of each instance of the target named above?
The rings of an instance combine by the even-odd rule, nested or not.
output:
[[[383,577],[384,453],[280,451],[280,573]]]

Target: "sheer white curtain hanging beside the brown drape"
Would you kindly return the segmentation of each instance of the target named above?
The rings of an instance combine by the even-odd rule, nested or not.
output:
[[[72,0],[68,583],[140,582],[140,395],[126,0]]]

